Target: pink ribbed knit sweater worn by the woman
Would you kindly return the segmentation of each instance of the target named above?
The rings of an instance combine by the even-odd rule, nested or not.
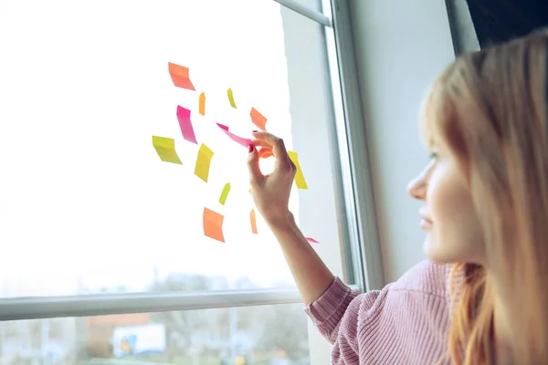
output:
[[[305,311],[332,343],[333,364],[448,364],[449,270],[423,261],[365,294],[335,278]]]

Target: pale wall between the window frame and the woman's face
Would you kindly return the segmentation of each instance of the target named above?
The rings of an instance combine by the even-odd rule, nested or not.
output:
[[[424,258],[420,203],[406,184],[427,163],[418,110],[428,86],[454,59],[444,1],[351,0],[353,39],[385,281]]]

